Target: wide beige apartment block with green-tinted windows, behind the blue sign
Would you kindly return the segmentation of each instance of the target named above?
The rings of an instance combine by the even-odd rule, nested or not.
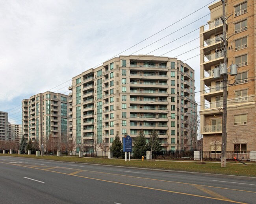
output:
[[[110,59],[72,78],[69,134],[85,143],[106,138],[111,146],[116,134],[135,138],[143,130],[148,139],[155,129],[163,148],[190,150],[188,123],[197,118],[194,82],[194,70],[176,58]]]

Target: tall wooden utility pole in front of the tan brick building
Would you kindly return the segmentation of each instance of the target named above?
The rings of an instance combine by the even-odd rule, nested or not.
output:
[[[227,65],[227,42],[226,42],[226,15],[225,0],[221,0],[223,4],[223,43],[224,43],[224,66]],[[222,115],[222,141],[221,141],[221,167],[226,167],[226,143],[227,143],[227,74],[223,73],[223,115]]]

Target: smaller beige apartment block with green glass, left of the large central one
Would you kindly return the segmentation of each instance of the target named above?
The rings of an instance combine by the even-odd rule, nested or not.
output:
[[[67,95],[45,92],[22,100],[22,134],[25,138],[67,134]]]

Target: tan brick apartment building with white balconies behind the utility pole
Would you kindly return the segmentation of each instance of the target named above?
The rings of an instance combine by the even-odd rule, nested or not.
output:
[[[256,150],[255,121],[255,4],[253,0],[226,0],[227,67],[238,64],[238,74],[228,75],[227,151]],[[221,151],[223,81],[213,69],[223,63],[222,2],[209,6],[211,18],[200,27],[200,124],[204,151]],[[230,71],[230,69],[228,69]]]

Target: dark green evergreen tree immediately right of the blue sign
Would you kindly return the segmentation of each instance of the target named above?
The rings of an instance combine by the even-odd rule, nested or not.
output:
[[[143,130],[139,131],[139,135],[135,138],[134,148],[133,148],[133,158],[141,159],[142,156],[146,155],[147,147],[146,147],[146,138]]]

